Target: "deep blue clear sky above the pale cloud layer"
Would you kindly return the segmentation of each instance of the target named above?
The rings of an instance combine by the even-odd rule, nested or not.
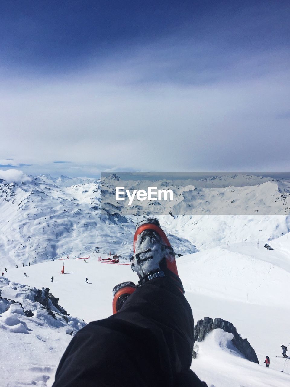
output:
[[[290,40],[287,1],[12,0],[1,8],[2,66],[34,74],[78,70],[112,55],[120,60],[167,40],[165,51],[188,43],[182,56],[171,52],[179,79],[176,73],[193,64],[226,67],[237,56],[283,49]]]

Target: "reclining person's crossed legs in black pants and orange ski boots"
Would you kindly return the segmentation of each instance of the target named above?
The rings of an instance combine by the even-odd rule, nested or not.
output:
[[[189,368],[192,311],[174,250],[157,219],[137,225],[131,268],[139,276],[138,286],[115,286],[114,315],[77,332],[60,360],[53,387],[77,387],[84,380],[86,387],[207,387]]]

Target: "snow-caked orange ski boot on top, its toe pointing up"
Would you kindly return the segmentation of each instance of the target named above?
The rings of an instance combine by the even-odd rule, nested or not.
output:
[[[157,219],[146,219],[138,223],[133,243],[131,268],[138,274],[140,285],[154,278],[167,277],[184,293],[174,250]]]

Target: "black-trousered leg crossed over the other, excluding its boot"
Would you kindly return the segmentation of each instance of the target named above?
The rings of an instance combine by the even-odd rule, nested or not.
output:
[[[194,330],[191,308],[183,294],[166,278],[139,286],[120,312],[111,318],[151,329],[155,341],[164,341],[170,352],[172,372],[180,373],[189,368]]]

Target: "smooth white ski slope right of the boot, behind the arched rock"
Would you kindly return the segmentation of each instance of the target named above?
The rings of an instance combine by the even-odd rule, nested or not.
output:
[[[268,355],[271,369],[285,367],[290,373],[288,361],[276,358],[289,340],[285,285],[290,281],[290,243],[286,235],[271,243],[281,243],[284,251],[251,243],[229,245],[182,257],[178,270],[196,321],[206,316],[232,322],[247,337],[260,364]],[[193,367],[197,370],[194,362]]]

